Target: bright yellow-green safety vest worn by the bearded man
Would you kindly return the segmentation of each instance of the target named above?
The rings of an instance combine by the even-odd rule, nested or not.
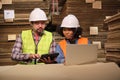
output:
[[[31,30],[22,31],[22,41],[23,41],[23,46],[22,46],[23,53],[35,54],[36,44],[33,40],[33,35]],[[52,42],[52,33],[48,31],[44,31],[44,35],[41,37],[37,46],[37,51],[38,51],[37,53],[40,55],[48,53],[51,42]]]

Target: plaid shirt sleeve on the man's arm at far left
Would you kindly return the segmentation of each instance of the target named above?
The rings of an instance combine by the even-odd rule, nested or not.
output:
[[[29,59],[29,54],[22,53],[22,38],[19,35],[15,41],[12,49],[11,58],[16,61],[27,61]]]

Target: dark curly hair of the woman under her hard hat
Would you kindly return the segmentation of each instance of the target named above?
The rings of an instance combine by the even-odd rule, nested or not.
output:
[[[58,34],[60,34],[62,37],[64,37],[63,28],[64,27],[58,26],[57,29],[56,29],[56,31],[58,32]],[[74,38],[79,38],[79,36],[82,35],[83,29],[81,27],[71,28],[71,29],[72,29],[73,32],[75,32]]]

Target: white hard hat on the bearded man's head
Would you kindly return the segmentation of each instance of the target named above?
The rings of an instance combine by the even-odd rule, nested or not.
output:
[[[41,10],[40,8],[35,8],[31,13],[29,17],[29,21],[46,21],[47,16],[46,13]]]

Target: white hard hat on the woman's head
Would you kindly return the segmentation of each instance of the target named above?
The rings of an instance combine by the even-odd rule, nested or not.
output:
[[[76,16],[69,14],[63,19],[61,27],[78,28],[80,27],[80,25],[79,25],[79,21],[76,18]]]

